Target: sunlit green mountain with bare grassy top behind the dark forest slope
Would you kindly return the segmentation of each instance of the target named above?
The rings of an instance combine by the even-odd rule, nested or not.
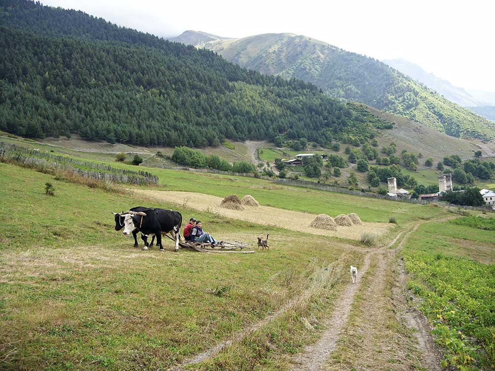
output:
[[[199,37],[200,35],[198,35]],[[194,43],[191,31],[172,39],[218,52],[262,73],[298,78],[339,99],[364,102],[454,137],[492,139],[495,125],[379,60],[295,34]]]

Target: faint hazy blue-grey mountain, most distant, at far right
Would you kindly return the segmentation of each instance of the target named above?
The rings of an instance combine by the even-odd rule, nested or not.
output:
[[[402,72],[404,75],[419,81],[428,88],[442,94],[448,100],[457,103],[463,107],[483,106],[486,103],[476,99],[463,88],[458,88],[450,84],[447,80],[441,79],[432,73],[426,72],[417,64],[411,63],[405,59],[387,59],[383,61],[392,68]]]

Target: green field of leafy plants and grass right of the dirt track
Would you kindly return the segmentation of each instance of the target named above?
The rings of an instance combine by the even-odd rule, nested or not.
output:
[[[404,245],[409,288],[435,326],[444,367],[495,368],[495,218],[421,226]]]

